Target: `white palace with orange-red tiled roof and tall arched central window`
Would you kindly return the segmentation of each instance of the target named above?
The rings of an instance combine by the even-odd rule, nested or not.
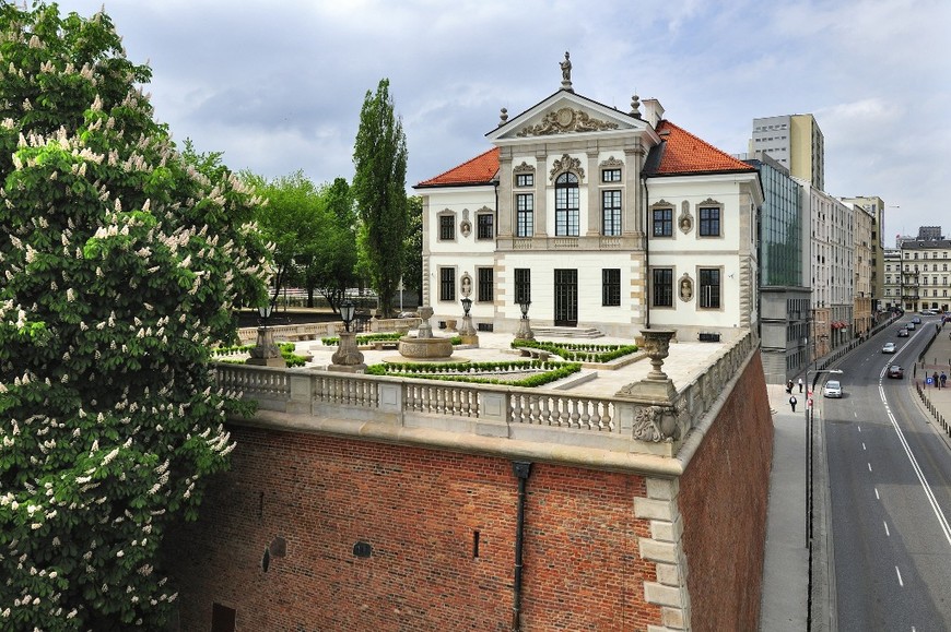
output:
[[[532,326],[670,326],[686,341],[753,326],[756,172],[644,105],[625,114],[561,90],[486,134],[494,175],[462,165],[416,187],[434,322],[461,319],[470,291],[473,323],[494,331],[518,327],[526,297]],[[678,172],[671,157],[698,144],[712,166]],[[669,225],[655,227],[656,212]]]

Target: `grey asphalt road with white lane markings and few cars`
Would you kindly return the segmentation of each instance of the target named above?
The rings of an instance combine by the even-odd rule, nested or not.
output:
[[[817,397],[842,631],[951,629],[951,450],[908,386],[929,331],[896,337],[908,320],[840,362],[842,400]],[[885,342],[897,353],[882,354]],[[885,377],[891,363],[905,368],[904,379]]]

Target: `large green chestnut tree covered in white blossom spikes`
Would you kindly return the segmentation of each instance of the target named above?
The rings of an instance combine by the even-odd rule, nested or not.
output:
[[[163,535],[234,448],[208,348],[265,299],[258,201],[150,74],[103,13],[0,3],[2,630],[163,625]]]

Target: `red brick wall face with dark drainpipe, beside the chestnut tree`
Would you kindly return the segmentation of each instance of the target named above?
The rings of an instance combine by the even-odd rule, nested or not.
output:
[[[183,630],[212,604],[238,630],[508,630],[518,479],[508,461],[232,428],[231,473],[169,538]],[[523,630],[644,630],[654,564],[638,476],[535,464],[527,484]],[[480,532],[473,558],[473,532]],[[286,556],[261,558],[275,537]],[[359,540],[373,556],[353,555]]]

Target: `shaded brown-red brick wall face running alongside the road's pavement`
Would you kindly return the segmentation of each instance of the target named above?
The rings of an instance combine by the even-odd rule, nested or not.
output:
[[[759,354],[680,480],[693,630],[756,630],[773,420]]]

